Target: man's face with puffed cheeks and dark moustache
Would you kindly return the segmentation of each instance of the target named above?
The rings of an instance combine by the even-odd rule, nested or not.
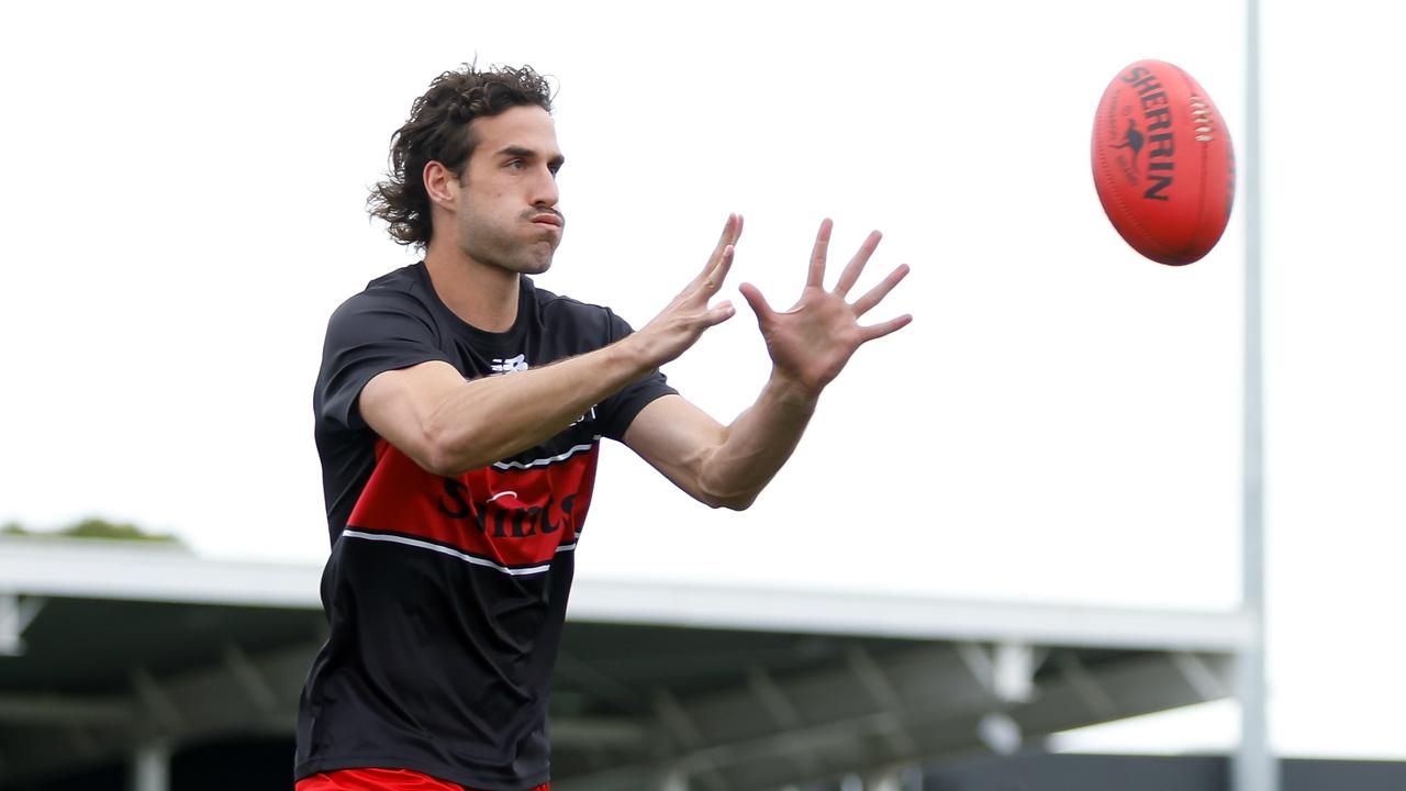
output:
[[[536,106],[475,118],[478,138],[461,182],[458,246],[471,259],[538,274],[551,266],[565,217],[557,210],[562,156],[551,115]]]

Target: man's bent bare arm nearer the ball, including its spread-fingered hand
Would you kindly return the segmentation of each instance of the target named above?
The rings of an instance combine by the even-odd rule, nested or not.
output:
[[[830,231],[831,222],[821,222],[806,289],[792,310],[778,312],[755,286],[741,287],[772,356],[772,376],[756,403],[724,426],[683,398],[666,396],[645,407],[624,435],[636,453],[707,505],[734,510],[751,505],[790,457],[820,393],[839,376],[855,350],[912,319],[901,315],[859,325],[859,317],[908,273],[905,265],[863,297],[845,301],[879,246],[877,231],[860,245],[835,289],[825,291]]]

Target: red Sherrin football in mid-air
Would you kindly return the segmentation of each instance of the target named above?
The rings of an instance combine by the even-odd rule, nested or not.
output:
[[[1114,77],[1094,118],[1094,186],[1135,251],[1171,266],[1220,241],[1234,203],[1230,132],[1206,91],[1171,63]]]

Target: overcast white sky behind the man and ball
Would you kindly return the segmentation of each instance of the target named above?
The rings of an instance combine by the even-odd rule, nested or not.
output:
[[[1265,6],[1274,739],[1406,757],[1406,13]],[[1236,607],[1243,213],[1202,262],[1143,260],[1098,207],[1088,137],[1108,80],[1159,58],[1243,139],[1237,3],[391,8],[7,10],[0,522],[103,515],[321,562],[326,317],[412,260],[366,187],[411,100],[477,53],[560,83],[571,222],[547,289],[641,325],[728,211],[733,286],[776,305],[821,217],[841,260],[884,232],[866,281],[912,266],[876,317],[914,324],[859,353],[754,510],[607,448],[581,574]],[[666,373],[725,421],[766,370],[744,307]],[[1194,743],[1226,709],[1180,716],[1143,742]]]

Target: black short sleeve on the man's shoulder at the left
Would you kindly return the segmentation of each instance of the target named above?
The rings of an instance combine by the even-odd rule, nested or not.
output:
[[[361,388],[378,373],[449,357],[429,311],[412,296],[367,290],[332,314],[314,408],[319,429],[361,429]]]

